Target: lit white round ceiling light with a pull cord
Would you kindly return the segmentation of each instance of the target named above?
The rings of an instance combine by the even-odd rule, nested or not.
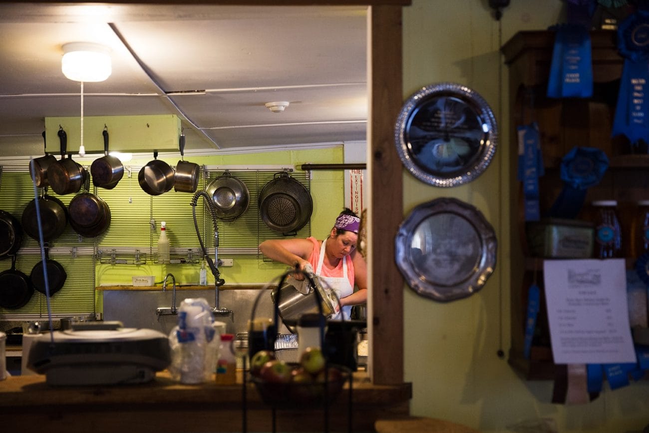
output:
[[[112,72],[110,50],[98,43],[71,42],[63,45],[61,69],[68,79],[81,82],[104,81]]]

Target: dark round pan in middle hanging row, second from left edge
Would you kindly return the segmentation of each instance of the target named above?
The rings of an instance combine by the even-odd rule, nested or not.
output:
[[[40,208],[41,226],[43,229],[43,241],[53,241],[66,229],[67,210],[66,205],[56,197],[47,195],[47,188],[43,188],[41,197],[38,197]],[[27,235],[40,241],[38,236],[38,217],[36,215],[36,199],[33,199],[23,210],[21,218],[23,230]]]

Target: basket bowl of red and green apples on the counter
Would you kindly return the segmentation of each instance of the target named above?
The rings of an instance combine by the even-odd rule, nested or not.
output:
[[[251,358],[251,381],[262,400],[273,406],[315,406],[334,402],[350,371],[327,365],[319,347],[307,347],[299,363],[275,358],[273,351],[259,351]]]

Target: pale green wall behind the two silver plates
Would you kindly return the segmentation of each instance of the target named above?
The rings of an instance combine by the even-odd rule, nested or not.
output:
[[[417,88],[453,81],[474,88],[499,122],[499,149],[478,179],[434,188],[404,173],[404,216],[414,206],[450,196],[473,204],[498,236],[498,263],[485,287],[467,299],[440,304],[404,288],[405,374],[413,383],[411,413],[455,421],[483,432],[639,432],[649,423],[649,380],[611,391],[590,404],[551,404],[552,382],[528,382],[496,352],[509,349],[508,70],[502,43],[521,30],[565,22],[562,1],[513,0],[502,21],[487,1],[413,0],[404,7],[404,99]],[[502,73],[502,86],[499,84]],[[503,134],[504,132],[504,134]],[[389,343],[389,342],[386,342]],[[519,423],[556,430],[515,429]]]

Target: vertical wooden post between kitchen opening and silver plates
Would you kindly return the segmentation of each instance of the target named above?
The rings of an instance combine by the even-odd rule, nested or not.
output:
[[[373,6],[368,13],[368,304],[374,384],[401,383],[404,372],[404,280],[395,264],[395,236],[403,218],[402,165],[394,143],[403,101],[401,16],[401,6]]]

